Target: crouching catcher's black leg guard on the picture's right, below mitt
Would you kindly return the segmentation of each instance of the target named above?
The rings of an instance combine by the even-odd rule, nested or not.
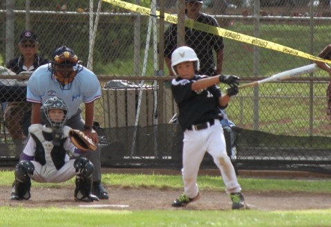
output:
[[[94,166],[87,158],[79,157],[73,164],[76,169],[75,201],[93,202],[99,199],[91,194]]]

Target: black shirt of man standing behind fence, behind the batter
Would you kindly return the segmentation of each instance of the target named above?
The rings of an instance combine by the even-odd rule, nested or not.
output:
[[[196,21],[217,26],[218,22],[214,17],[205,13],[199,14]],[[185,46],[191,47],[200,60],[200,75],[214,75],[214,51],[221,51],[224,48],[223,38],[218,35],[202,32],[185,27]],[[171,58],[171,54],[177,48],[177,24],[171,24],[164,33],[164,56]]]

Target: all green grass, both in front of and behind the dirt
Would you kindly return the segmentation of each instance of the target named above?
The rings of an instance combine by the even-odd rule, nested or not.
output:
[[[12,171],[0,172],[0,185],[10,185]],[[327,180],[238,178],[244,192],[324,192],[331,194]],[[182,189],[178,175],[103,174],[103,183],[114,187]],[[223,191],[219,176],[198,177],[200,190]],[[66,187],[32,182],[32,187]],[[56,186],[55,186],[56,185]],[[0,207],[0,226],[331,226],[331,210],[106,210],[86,208]]]

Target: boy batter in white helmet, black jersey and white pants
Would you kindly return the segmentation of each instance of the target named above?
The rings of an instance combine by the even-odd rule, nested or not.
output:
[[[199,59],[192,48],[182,46],[173,51],[171,67],[177,76],[171,81],[171,91],[179,107],[178,121],[184,131],[182,151],[182,179],[184,192],[173,201],[172,206],[186,206],[200,198],[197,176],[202,158],[207,151],[220,170],[226,192],[232,200],[232,209],[245,209],[246,204],[236,178],[234,166],[227,156],[223,127],[223,116],[230,96],[238,93],[238,77],[219,75],[207,77],[196,75]],[[229,84],[227,94],[222,96],[216,86],[219,82]]]

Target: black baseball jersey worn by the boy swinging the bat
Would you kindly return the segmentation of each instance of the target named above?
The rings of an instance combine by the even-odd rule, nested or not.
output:
[[[195,75],[191,80],[178,77],[171,81],[171,92],[179,108],[178,121],[183,131],[191,125],[223,119],[218,106],[218,98],[222,96],[219,87],[214,85],[201,91],[191,90],[193,82],[202,78],[207,76]]]

